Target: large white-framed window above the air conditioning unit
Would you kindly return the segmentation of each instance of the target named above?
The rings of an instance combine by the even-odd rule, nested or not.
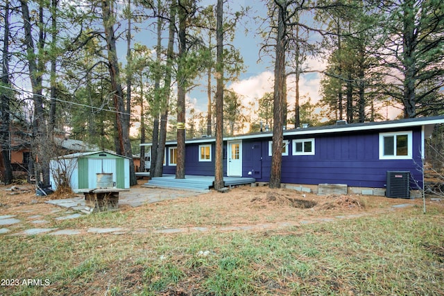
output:
[[[383,132],[379,134],[379,159],[411,159],[411,132]]]

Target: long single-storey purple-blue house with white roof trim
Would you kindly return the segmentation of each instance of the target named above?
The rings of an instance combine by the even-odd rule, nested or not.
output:
[[[281,182],[314,192],[318,184],[385,189],[387,172],[401,171],[409,172],[410,188],[419,189],[425,139],[438,123],[444,116],[284,130]],[[225,137],[224,176],[268,182],[272,139],[273,132]],[[186,141],[186,175],[214,175],[215,143],[213,137]],[[164,174],[176,173],[176,149],[176,142],[167,142]]]

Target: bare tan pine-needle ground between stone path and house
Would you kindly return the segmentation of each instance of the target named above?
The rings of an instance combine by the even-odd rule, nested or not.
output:
[[[140,188],[144,180],[132,188]],[[147,189],[148,190],[148,189]],[[150,189],[155,190],[155,189]],[[34,214],[44,214],[55,206],[46,204],[50,199],[64,199],[74,197],[74,193],[62,195],[36,196],[35,188],[31,184],[15,186],[0,186],[0,216],[14,215],[27,209],[33,209]],[[248,225],[282,222],[291,217],[298,218],[330,218],[334,216],[353,216],[361,214],[378,214],[395,204],[414,204],[422,208],[422,199],[386,198],[373,195],[316,195],[302,193],[291,189],[269,189],[268,186],[239,186],[230,189],[227,193],[211,191],[196,197],[167,200],[160,202],[165,207],[171,206],[172,213],[187,209],[186,204],[193,202],[201,209],[214,209],[219,219],[224,216],[232,225]],[[427,198],[427,204],[432,207],[444,207],[444,201]],[[146,211],[149,204],[142,207],[121,207],[120,211]],[[251,216],[255,216],[251,219]],[[144,226],[144,225],[138,225]],[[193,226],[193,225],[189,225]]]

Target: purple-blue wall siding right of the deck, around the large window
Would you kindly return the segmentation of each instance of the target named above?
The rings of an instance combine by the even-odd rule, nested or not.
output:
[[[282,183],[292,184],[347,184],[348,186],[379,187],[386,184],[386,171],[410,171],[419,186],[422,177],[418,168],[422,165],[421,131],[413,131],[413,159],[379,159],[379,132],[342,132],[317,134],[314,155],[291,155],[292,140],[289,140],[289,155],[282,156]],[[404,130],[384,130],[400,132]],[[301,139],[298,137],[298,139]],[[268,182],[271,157],[268,156],[268,141],[262,143],[262,178]],[[412,180],[411,187],[416,188]]]

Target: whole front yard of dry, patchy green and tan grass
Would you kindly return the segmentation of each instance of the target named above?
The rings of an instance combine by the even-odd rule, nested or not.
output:
[[[302,195],[244,186],[60,222],[51,213],[58,208],[43,203],[48,198],[37,198],[32,191],[9,193],[0,190],[2,215],[26,221],[40,214],[50,227],[60,229],[214,228],[190,234],[1,235],[2,279],[49,279],[51,284],[0,286],[0,295],[444,293],[444,202],[428,200],[424,215],[422,200]],[[413,207],[391,208],[400,203]],[[336,216],[353,218],[267,230],[217,230]]]

